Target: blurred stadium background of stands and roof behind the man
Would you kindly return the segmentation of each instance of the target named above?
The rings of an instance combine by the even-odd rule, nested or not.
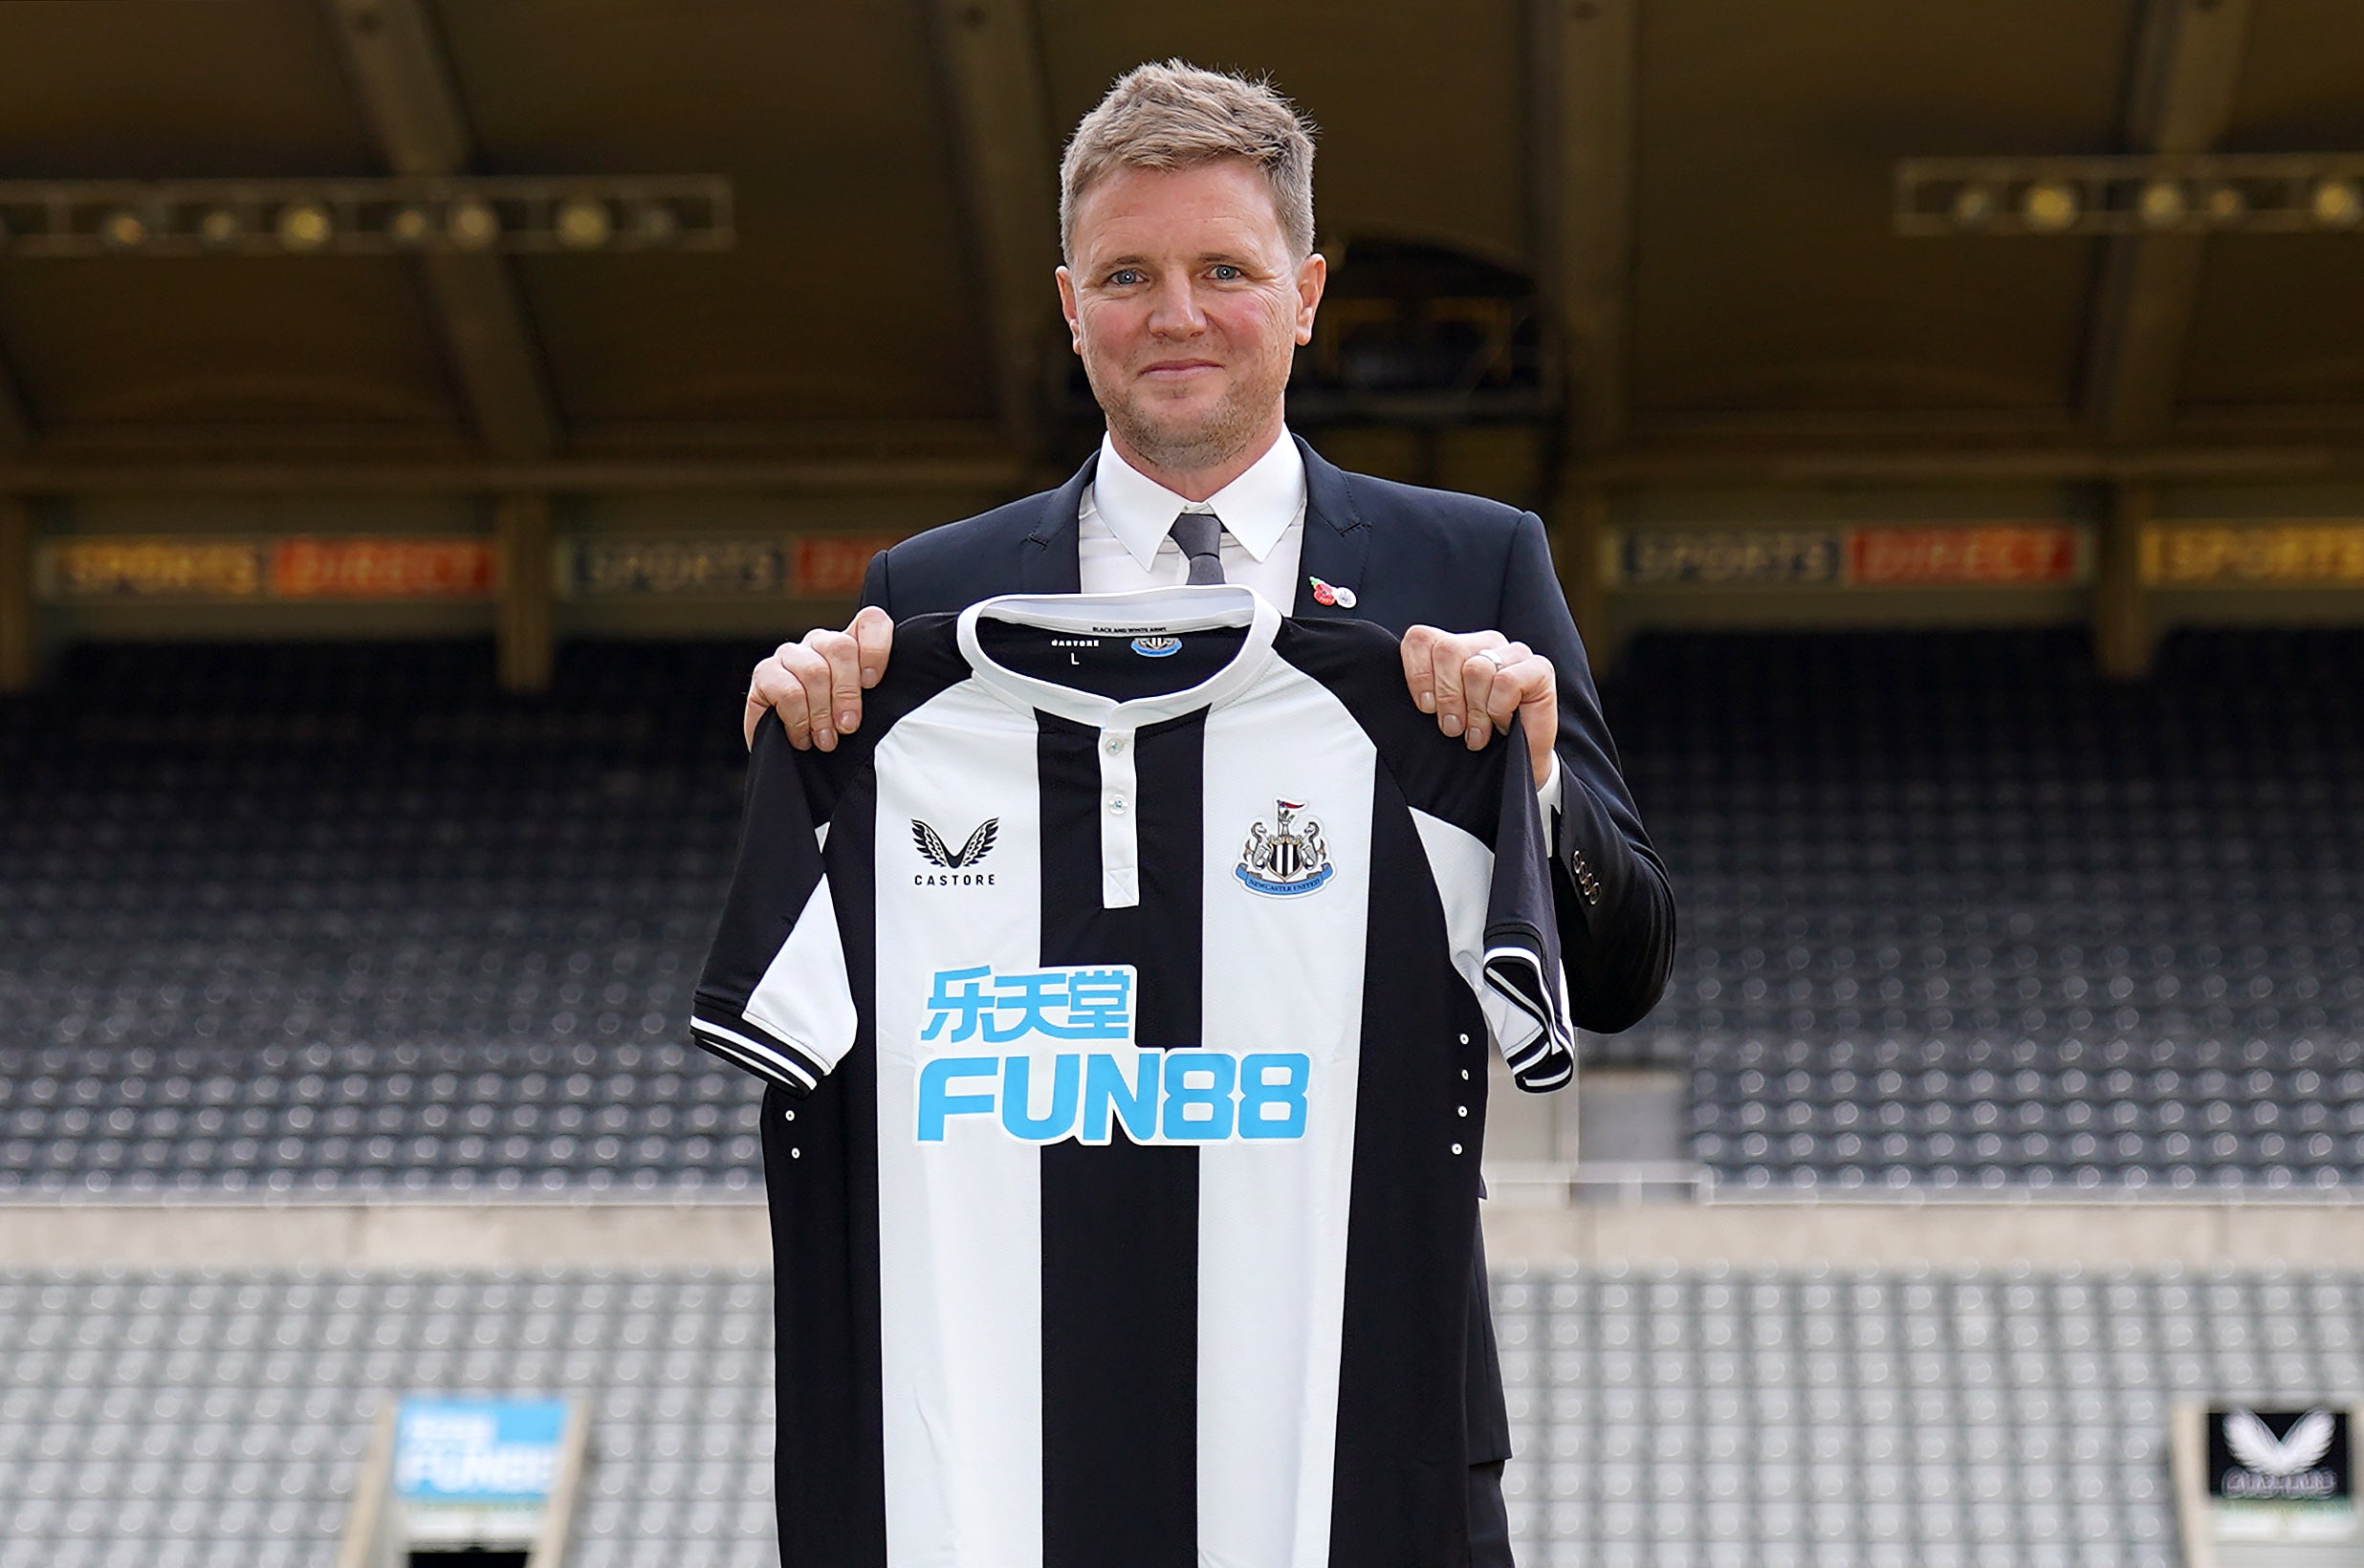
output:
[[[2364,1398],[2357,0],[14,0],[0,1568],[392,1561],[404,1393],[577,1400],[537,1568],[775,1561],[747,669],[1097,442],[1173,54],[1681,903],[1489,1128],[1522,1563],[2364,1561],[2201,1426]]]

